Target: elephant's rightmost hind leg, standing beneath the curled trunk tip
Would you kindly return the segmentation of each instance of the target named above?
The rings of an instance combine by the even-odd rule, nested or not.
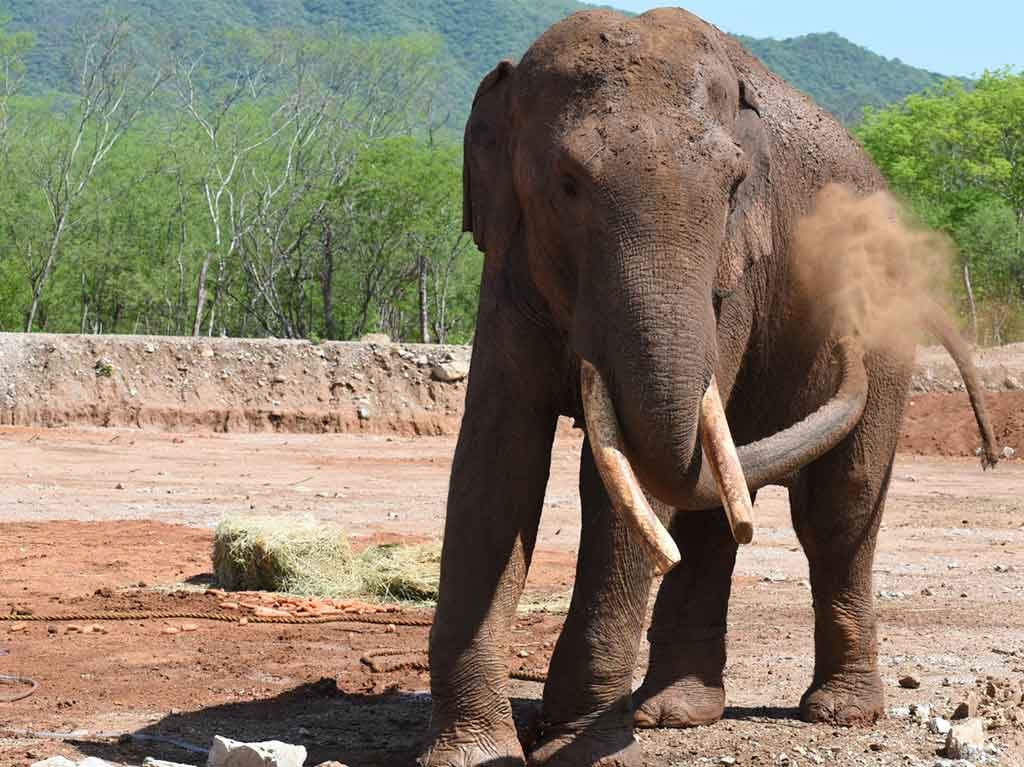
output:
[[[876,356],[867,407],[850,437],[790,489],[814,595],[814,679],[800,701],[809,722],[869,724],[885,711],[871,569],[892,474],[912,351]]]

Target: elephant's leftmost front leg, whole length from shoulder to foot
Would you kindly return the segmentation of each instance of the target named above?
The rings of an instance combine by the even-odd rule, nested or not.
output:
[[[534,384],[557,356],[481,308],[449,487],[430,632],[433,712],[424,767],[521,767],[506,692],[508,637],[529,566],[557,412]],[[522,358],[526,355],[527,358]],[[530,356],[531,355],[531,356]]]

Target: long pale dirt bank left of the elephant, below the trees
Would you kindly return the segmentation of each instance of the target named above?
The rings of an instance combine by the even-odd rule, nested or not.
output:
[[[446,434],[469,349],[0,334],[0,424]]]

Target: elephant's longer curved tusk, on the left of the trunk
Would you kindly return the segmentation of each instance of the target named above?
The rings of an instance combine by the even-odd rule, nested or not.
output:
[[[647,551],[655,572],[664,574],[679,564],[679,547],[650,508],[626,460],[615,408],[601,374],[587,360],[581,361],[580,374],[590,449],[611,506]]]

